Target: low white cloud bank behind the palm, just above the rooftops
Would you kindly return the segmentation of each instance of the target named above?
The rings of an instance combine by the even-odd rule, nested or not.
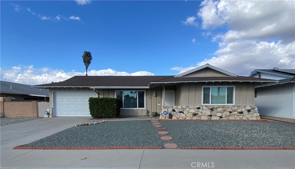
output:
[[[1,68],[0,68],[1,69]],[[30,66],[14,66],[8,70],[1,69],[0,78],[4,81],[10,81],[22,84],[45,84],[64,81],[73,76],[85,76],[86,72],[76,72],[75,70],[65,72],[64,70],[51,69],[49,67],[34,68]],[[113,69],[91,70],[87,73],[89,76],[153,76],[154,74],[147,71],[134,73],[118,72]]]

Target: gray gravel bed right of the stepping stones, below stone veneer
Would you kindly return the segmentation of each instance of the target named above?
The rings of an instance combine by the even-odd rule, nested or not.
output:
[[[295,147],[295,124],[269,121],[161,122],[178,148]]]

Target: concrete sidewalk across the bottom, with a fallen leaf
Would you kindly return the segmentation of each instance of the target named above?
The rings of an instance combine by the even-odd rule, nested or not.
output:
[[[0,168],[294,169],[294,159],[294,150],[1,150]]]

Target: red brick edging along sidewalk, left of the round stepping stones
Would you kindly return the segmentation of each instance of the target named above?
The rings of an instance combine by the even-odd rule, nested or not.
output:
[[[137,147],[137,146],[109,146],[109,147],[20,147],[13,149],[35,149],[35,150],[103,150],[103,149],[163,149],[162,147]]]

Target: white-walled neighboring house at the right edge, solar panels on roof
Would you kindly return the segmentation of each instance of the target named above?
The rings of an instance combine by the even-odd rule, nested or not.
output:
[[[295,119],[295,69],[255,69],[249,77],[278,80],[255,86],[260,115]]]

